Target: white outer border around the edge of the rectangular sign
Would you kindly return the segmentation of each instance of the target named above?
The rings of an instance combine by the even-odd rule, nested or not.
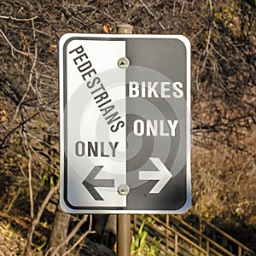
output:
[[[180,40],[186,49],[186,107],[187,107],[187,132],[186,132],[186,201],[183,207],[177,210],[129,210],[126,207],[74,207],[67,200],[67,156],[66,152],[66,139],[67,137],[67,124],[64,124],[65,120],[65,107],[67,104],[67,76],[65,73],[67,71],[67,44],[73,40],[106,40],[106,41],[115,41],[119,39],[129,39],[129,38],[147,38],[147,39],[177,39]],[[60,176],[61,176],[61,185],[60,185],[60,203],[61,208],[68,213],[183,213],[187,212],[191,206],[191,168],[190,168],[190,148],[191,148],[191,136],[190,136],[190,87],[191,87],[191,56],[190,56],[190,42],[189,39],[183,35],[124,35],[124,34],[83,34],[83,33],[67,33],[63,35],[58,44],[58,55],[59,55],[59,96],[60,96]],[[189,111],[189,113],[188,113]]]

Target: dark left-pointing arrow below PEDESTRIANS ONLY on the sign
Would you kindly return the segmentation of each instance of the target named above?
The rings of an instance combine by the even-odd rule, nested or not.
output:
[[[95,187],[114,187],[114,179],[95,179],[102,168],[103,166],[94,166],[94,168],[83,181],[84,187],[90,192],[90,195],[92,195],[96,201],[104,201],[104,199],[96,191]]]

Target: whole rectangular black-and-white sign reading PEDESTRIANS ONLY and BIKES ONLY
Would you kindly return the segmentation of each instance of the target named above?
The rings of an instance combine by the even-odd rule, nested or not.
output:
[[[59,72],[62,209],[187,211],[189,40],[66,34]]]

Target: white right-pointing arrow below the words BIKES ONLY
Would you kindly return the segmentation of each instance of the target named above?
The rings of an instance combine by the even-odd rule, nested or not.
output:
[[[159,158],[149,157],[149,160],[154,164],[158,171],[140,171],[140,180],[158,180],[154,188],[149,191],[149,194],[159,194],[160,191],[166,186],[166,183],[172,178],[172,173],[168,171],[166,166]]]

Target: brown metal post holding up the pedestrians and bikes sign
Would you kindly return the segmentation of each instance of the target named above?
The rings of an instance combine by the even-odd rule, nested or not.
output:
[[[132,34],[133,26],[121,23],[116,26],[118,34]],[[117,254],[131,256],[131,215],[117,215]]]

